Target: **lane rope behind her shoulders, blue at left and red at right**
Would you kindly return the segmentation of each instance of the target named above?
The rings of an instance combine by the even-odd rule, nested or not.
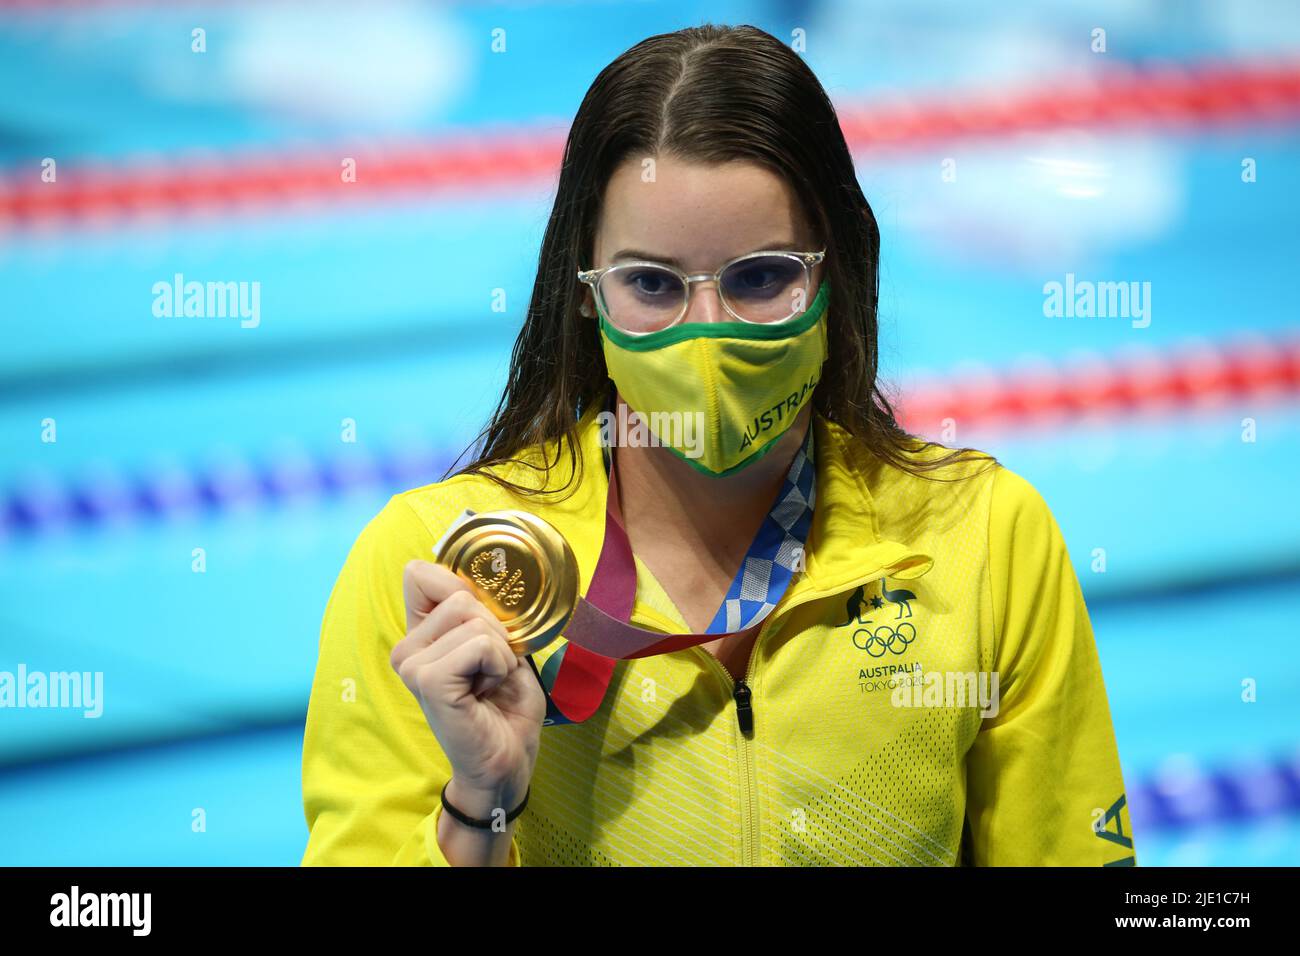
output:
[[[1022,371],[936,378],[909,388],[897,410],[910,432],[935,436],[948,421],[967,434],[1002,428],[1050,433],[1054,427],[1115,427],[1140,416],[1222,415],[1228,408],[1260,414],[1288,402],[1300,402],[1300,337],[1252,336],[1218,345],[1184,343],[1166,352],[1096,355],[1061,365],[1044,362]],[[34,442],[36,434],[34,425]],[[196,511],[326,499],[356,489],[404,490],[438,480],[456,458],[432,446],[344,449],[263,457],[225,453],[205,464],[172,463],[135,473],[107,462],[77,476],[42,471],[0,489],[0,541],[69,525],[165,522]]]

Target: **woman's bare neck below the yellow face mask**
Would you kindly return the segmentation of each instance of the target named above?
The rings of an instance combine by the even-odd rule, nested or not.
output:
[[[621,419],[621,395],[618,403]],[[725,477],[702,475],[666,447],[615,449],[623,523],[633,550],[641,553],[638,542],[672,544],[738,566],[803,444],[811,411],[805,406],[771,451]]]

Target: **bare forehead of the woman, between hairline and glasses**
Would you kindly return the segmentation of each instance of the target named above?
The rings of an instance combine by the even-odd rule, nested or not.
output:
[[[594,252],[597,265],[633,248],[708,271],[774,243],[803,248],[807,238],[798,196],[772,170],[647,156],[629,157],[610,177]]]

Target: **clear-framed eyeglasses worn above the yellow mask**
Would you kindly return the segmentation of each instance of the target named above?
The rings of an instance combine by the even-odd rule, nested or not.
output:
[[[627,261],[603,269],[578,269],[597,304],[615,326],[633,334],[660,332],[686,315],[696,282],[715,282],[728,315],[742,323],[784,323],[807,310],[812,267],[819,252],[762,250],[737,256],[718,272],[685,273],[666,263]]]

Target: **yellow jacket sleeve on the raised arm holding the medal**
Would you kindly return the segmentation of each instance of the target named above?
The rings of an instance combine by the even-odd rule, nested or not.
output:
[[[402,572],[434,536],[394,496],[360,533],[321,624],[303,736],[304,866],[450,866],[438,848],[451,777],[389,656],[406,636]],[[508,865],[519,866],[519,826]]]

